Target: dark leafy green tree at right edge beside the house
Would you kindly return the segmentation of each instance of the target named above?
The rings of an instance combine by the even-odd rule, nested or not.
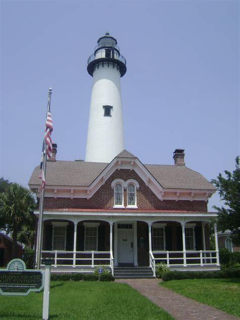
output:
[[[240,245],[240,168],[239,156],[235,159],[235,170],[230,173],[225,170],[226,178],[219,173],[217,179],[212,183],[217,187],[221,200],[224,201],[225,207],[213,208],[218,211],[217,223],[222,232],[229,229],[232,242]]]

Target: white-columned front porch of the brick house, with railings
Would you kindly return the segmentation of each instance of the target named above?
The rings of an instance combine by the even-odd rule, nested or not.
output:
[[[177,270],[218,270],[216,226],[216,247],[210,250],[211,214],[196,215],[45,216],[42,258],[53,259],[52,272],[94,272],[104,265],[112,275],[115,267],[150,267],[155,276],[160,262]]]

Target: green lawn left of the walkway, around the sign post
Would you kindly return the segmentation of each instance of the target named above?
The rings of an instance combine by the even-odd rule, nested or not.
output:
[[[43,292],[1,296],[1,320],[42,319]],[[50,290],[50,319],[173,319],[126,284],[54,281]]]

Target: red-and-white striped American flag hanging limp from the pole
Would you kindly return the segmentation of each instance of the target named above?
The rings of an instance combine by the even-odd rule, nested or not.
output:
[[[44,174],[44,170],[43,170],[44,155],[45,155],[45,143],[47,145],[47,148],[46,148],[47,159],[51,158],[51,156],[53,155],[52,138],[51,138],[52,131],[53,131],[53,122],[52,122],[51,112],[49,110],[48,114],[47,114],[47,119],[46,119],[44,143],[43,143],[43,150],[42,150],[41,164],[40,164],[41,173],[39,175],[39,178],[42,179],[41,190],[46,185],[46,179],[45,179],[45,174]]]

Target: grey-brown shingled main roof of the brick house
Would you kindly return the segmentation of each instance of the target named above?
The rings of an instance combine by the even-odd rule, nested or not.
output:
[[[118,156],[128,156],[124,150]],[[130,153],[129,157],[135,157]],[[47,163],[47,185],[89,186],[107,167],[107,163],[84,161],[56,161]],[[163,188],[215,190],[201,174],[186,167],[171,165],[144,165]],[[29,185],[39,185],[39,166],[29,180]]]

